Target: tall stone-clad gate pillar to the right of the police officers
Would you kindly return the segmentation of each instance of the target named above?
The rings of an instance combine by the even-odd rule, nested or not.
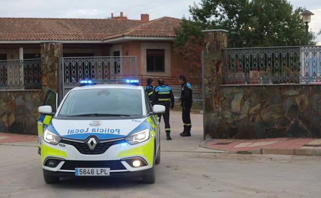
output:
[[[221,101],[218,96],[222,84],[222,49],[227,47],[226,30],[203,30],[203,110],[204,138],[212,137],[211,132],[218,127]]]

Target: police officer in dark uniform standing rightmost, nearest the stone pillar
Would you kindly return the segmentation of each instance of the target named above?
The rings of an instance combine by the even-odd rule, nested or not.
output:
[[[179,100],[182,101],[182,119],[184,123],[184,130],[180,135],[186,137],[191,136],[190,130],[192,127],[192,123],[190,120],[190,109],[193,102],[192,86],[186,81],[186,77],[184,75],[181,75],[179,77],[179,82],[182,85],[182,93]]]

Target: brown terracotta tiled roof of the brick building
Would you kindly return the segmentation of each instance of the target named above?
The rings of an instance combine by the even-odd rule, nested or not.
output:
[[[181,20],[0,18],[0,41],[103,41],[122,36],[174,37]]]

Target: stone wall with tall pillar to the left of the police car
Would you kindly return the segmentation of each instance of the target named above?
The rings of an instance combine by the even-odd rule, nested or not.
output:
[[[0,91],[0,132],[38,134],[38,107],[49,88],[58,91],[58,58],[61,57],[62,43],[42,43],[42,89]]]

